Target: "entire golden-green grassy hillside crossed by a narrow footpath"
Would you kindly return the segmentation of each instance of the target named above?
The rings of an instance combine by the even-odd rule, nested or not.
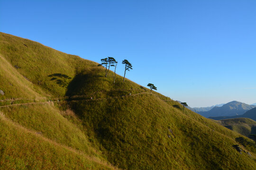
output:
[[[3,33],[0,56],[2,169],[256,169],[251,139],[98,63]]]

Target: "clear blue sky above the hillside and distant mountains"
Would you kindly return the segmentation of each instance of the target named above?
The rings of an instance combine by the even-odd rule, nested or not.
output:
[[[256,102],[256,0],[0,0],[0,32],[100,62],[192,107]]]

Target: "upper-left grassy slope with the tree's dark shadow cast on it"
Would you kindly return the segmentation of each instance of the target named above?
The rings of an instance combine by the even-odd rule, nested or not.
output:
[[[0,54],[22,76],[52,96],[63,96],[81,67],[96,66],[95,62],[4,33],[0,33]]]

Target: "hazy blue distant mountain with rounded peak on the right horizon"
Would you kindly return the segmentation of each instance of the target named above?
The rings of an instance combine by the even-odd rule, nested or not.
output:
[[[251,110],[256,106],[251,106],[242,102],[228,102],[221,107],[214,107],[209,111],[199,111],[198,113],[206,118],[208,117],[219,117],[219,116],[235,116],[242,115],[247,110]]]

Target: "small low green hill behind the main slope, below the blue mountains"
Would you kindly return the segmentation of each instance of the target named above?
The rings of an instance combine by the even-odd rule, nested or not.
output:
[[[256,134],[256,121],[249,118],[222,119],[216,122],[247,137],[251,137],[250,134]]]

